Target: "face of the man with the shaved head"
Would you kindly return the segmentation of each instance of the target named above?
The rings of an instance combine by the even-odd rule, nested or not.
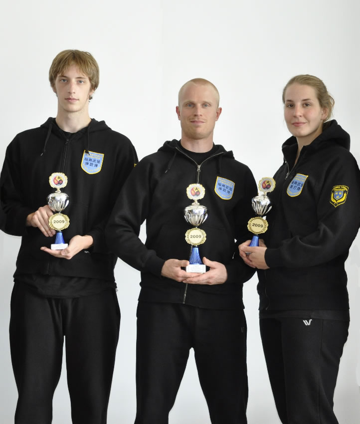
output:
[[[182,137],[202,140],[212,136],[221,108],[213,87],[209,84],[187,84],[180,93],[176,108]]]

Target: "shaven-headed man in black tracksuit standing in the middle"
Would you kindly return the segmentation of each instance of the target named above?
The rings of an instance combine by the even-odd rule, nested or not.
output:
[[[110,248],[141,271],[135,423],[169,422],[193,348],[211,423],[244,424],[248,387],[242,284],[253,270],[241,263],[236,245],[247,239],[257,188],[249,168],[213,143],[221,108],[211,82],[187,81],[176,112],[180,141],[167,141],[137,165],[106,230]],[[207,207],[208,217],[200,225],[206,240],[199,246],[202,261],[191,261],[200,272],[188,272],[193,271],[186,267],[195,249],[185,241],[190,225],[183,210],[197,198]],[[145,219],[144,244],[138,236]]]

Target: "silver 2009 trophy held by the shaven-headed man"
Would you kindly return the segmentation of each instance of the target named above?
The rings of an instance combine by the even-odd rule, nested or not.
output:
[[[206,266],[202,263],[198,245],[206,240],[204,230],[198,228],[207,218],[206,206],[200,205],[197,200],[200,200],[205,195],[205,189],[201,184],[190,184],[186,189],[187,197],[194,202],[184,209],[184,218],[186,222],[194,227],[188,229],[185,233],[185,240],[191,244],[191,254],[189,265],[186,266],[186,272],[197,272],[203,274],[206,272]]]

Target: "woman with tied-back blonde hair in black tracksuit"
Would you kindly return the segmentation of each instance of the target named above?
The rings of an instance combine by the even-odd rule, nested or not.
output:
[[[260,332],[283,424],[337,424],[333,396],[348,337],[344,263],[360,223],[360,172],[350,136],[329,121],[334,99],[312,75],[283,91],[292,136],[275,173],[265,244],[240,246],[258,269]],[[245,251],[251,252],[246,256]]]

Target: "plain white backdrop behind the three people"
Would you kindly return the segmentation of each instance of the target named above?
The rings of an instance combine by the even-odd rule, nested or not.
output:
[[[16,133],[56,115],[47,73],[53,57],[66,48],[90,51],[97,59],[100,86],[90,116],[105,119],[127,135],[139,158],[156,151],[165,140],[180,137],[175,113],[178,90],[188,79],[203,77],[219,89],[223,108],[215,143],[232,149],[256,180],[273,175],[282,161],[280,146],[288,137],[282,87],[293,75],[311,73],[321,77],[333,94],[335,118],[351,134],[352,152],[360,160],[360,6],[356,0],[3,0],[2,4],[1,163]],[[8,321],[18,247],[17,237],[0,233],[0,422],[4,424],[13,422],[17,398]],[[347,262],[352,321],[335,393],[335,409],[343,424],[360,422],[359,249],[358,237]],[[116,280],[122,320],[108,423],[130,424],[136,408],[140,275],[119,261]],[[255,277],[245,285],[244,302],[248,422],[278,424],[258,331]],[[70,422],[63,372],[54,397],[53,423]],[[210,423],[192,355],[170,423]]]

